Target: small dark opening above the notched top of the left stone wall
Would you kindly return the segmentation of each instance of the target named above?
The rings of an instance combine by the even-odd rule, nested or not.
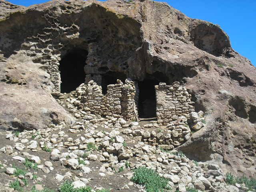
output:
[[[102,94],[107,93],[107,87],[110,84],[117,84],[116,80],[121,80],[123,83],[126,80],[126,75],[122,72],[106,72],[102,74]]]

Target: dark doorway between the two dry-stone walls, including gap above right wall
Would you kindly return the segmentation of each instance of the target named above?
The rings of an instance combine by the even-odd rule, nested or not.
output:
[[[147,75],[143,81],[138,82],[139,100],[138,113],[139,118],[156,118],[156,90],[155,85],[160,82],[168,83],[168,78],[161,72],[155,72]]]

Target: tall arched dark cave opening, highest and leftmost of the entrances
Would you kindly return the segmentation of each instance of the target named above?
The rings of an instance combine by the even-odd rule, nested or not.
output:
[[[87,55],[86,50],[73,49],[60,60],[61,93],[70,93],[84,83]]]

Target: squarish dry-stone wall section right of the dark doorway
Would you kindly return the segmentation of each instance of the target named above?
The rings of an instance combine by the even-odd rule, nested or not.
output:
[[[159,83],[156,89],[156,116],[159,125],[167,125],[175,121],[179,116],[190,117],[190,112],[194,111],[194,102],[185,87],[179,82],[172,85]]]

